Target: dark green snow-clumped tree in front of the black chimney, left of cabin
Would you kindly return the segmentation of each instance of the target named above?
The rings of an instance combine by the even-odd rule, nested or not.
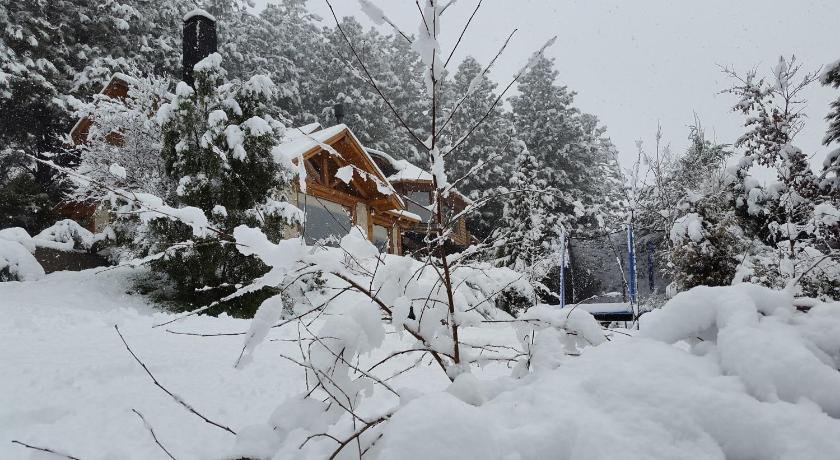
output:
[[[187,304],[220,299],[232,286],[266,271],[261,261],[237,249],[231,236],[235,227],[261,228],[276,241],[298,218],[296,208],[274,199],[291,177],[272,156],[285,130],[275,105],[277,87],[265,75],[227,80],[221,62],[214,53],[196,64],[194,87],[179,82],[157,114],[165,177],[173,190],[167,201],[192,209],[193,222],[207,216],[212,230],[197,232],[183,220],[157,219],[136,237],[142,254],[158,255],[152,270],[164,275],[175,299]],[[247,314],[253,302],[238,299],[225,308]]]

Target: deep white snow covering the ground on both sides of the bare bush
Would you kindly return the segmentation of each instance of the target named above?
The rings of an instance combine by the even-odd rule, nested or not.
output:
[[[259,434],[285,398],[305,391],[303,372],[277,356],[294,353],[297,345],[282,341],[296,336],[293,329],[273,329],[274,341],[256,351],[254,362],[234,369],[241,337],[153,329],[171,315],[130,292],[133,274],[88,270],[0,283],[0,458],[53,458],[13,439],[81,459],[167,458],[132,409],[175,458],[236,458],[259,444],[246,434]],[[154,386],[114,325],[162,384],[242,439],[202,422]],[[170,328],[238,332],[248,322],[195,317]],[[514,340],[507,327],[495,332]],[[637,336],[611,338],[579,357],[543,355],[522,380],[501,365],[476,372],[479,380],[469,388],[463,379],[448,385],[433,366],[404,374],[394,381],[403,408],[375,453],[840,458],[840,304],[801,314],[768,290],[701,288],[649,315]],[[391,333],[385,348],[401,341],[409,344]],[[276,458],[325,456],[317,445],[298,450],[297,419],[279,415],[290,429]]]

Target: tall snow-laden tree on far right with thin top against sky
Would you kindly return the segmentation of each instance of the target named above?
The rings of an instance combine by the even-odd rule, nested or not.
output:
[[[805,123],[801,92],[817,76],[801,75],[796,59],[784,57],[769,79],[758,78],[755,71],[727,73],[737,81],[728,91],[738,97],[734,110],[746,116],[748,128],[735,144],[744,158],[731,174],[736,212],[754,242],[738,279],[796,285],[808,295],[837,297],[840,283],[831,239],[840,203],[826,193],[808,155],[794,145]],[[755,162],[775,169],[777,180],[762,186],[752,178]]]

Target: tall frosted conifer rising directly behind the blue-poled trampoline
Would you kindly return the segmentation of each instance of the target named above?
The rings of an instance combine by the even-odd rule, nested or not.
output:
[[[524,145],[497,230],[500,256],[510,266],[533,267],[535,281],[556,269],[564,232],[602,232],[622,208],[614,148],[597,118],[574,107],[574,93],[555,82],[557,75],[551,60],[539,59],[510,99]]]

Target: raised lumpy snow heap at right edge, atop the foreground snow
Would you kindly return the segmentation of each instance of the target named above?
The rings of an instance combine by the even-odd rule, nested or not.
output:
[[[643,316],[641,335],[687,342],[761,401],[808,401],[840,417],[838,318],[840,304],[804,314],[789,293],[756,285],[698,287]]]

